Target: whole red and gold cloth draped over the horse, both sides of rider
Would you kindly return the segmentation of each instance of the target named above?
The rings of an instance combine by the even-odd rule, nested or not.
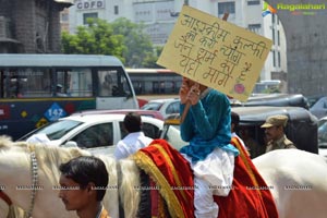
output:
[[[219,205],[218,218],[278,218],[277,208],[267,184],[259,175],[244,147],[237,138],[231,142],[239,150],[235,158],[232,190],[226,197],[214,196]],[[155,140],[134,156],[136,165],[157,185],[153,202],[165,201],[171,217],[194,217],[194,181],[189,162],[165,140]],[[158,195],[160,193],[161,197]],[[154,205],[152,217],[166,218],[162,205]],[[161,209],[160,209],[161,208]]]

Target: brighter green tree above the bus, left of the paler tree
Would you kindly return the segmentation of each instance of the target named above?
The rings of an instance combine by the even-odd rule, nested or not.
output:
[[[75,35],[62,33],[63,52],[116,56],[124,63],[124,36],[113,34],[112,26],[102,20],[89,19],[87,24],[78,26]]]

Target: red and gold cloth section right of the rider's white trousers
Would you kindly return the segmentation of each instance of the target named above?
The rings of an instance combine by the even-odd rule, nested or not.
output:
[[[275,201],[246,150],[237,137],[231,144],[239,150],[235,158],[232,190],[226,197],[214,196],[219,205],[219,218],[278,218]]]

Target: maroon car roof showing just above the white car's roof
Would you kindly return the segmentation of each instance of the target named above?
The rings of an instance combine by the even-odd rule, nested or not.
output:
[[[108,114],[108,113],[120,113],[126,114],[128,112],[137,112],[141,116],[156,118],[159,120],[165,120],[162,114],[156,110],[142,110],[142,109],[119,109],[119,110],[82,110],[72,113],[71,116],[86,116],[86,114]]]

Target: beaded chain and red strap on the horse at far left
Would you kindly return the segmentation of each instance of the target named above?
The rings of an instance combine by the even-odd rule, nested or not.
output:
[[[32,190],[32,192],[31,192],[31,204],[29,204],[28,211],[26,214],[26,218],[32,217],[33,208],[35,205],[37,185],[38,185],[38,165],[37,165],[37,159],[36,159],[36,155],[35,155],[35,147],[29,146],[29,150],[31,150],[31,174],[32,174],[32,186],[31,186],[32,189],[31,190]],[[12,205],[12,201],[2,190],[0,190],[0,198],[3,199],[8,204],[8,206]]]

